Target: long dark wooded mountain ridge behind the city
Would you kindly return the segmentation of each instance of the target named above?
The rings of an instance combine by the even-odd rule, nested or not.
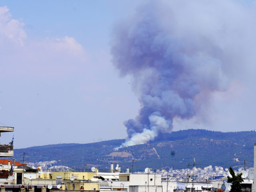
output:
[[[215,132],[210,130],[180,130],[165,134],[148,144],[120,148],[124,139],[89,144],[53,144],[14,149],[14,158],[20,160],[23,152],[30,153],[28,162],[56,160],[57,165],[84,168],[88,164],[99,169],[109,169],[110,163],[118,163],[122,169],[132,166],[134,170],[146,167],[156,169],[186,168],[194,158],[197,167],[253,165],[255,131]]]

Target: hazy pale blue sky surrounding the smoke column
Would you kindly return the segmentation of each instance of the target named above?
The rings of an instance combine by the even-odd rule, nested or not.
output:
[[[224,16],[226,22],[222,24],[229,20],[228,30],[238,30],[234,37],[230,33],[232,38],[223,46],[228,45],[226,49],[230,49],[234,41],[234,46],[243,50],[243,57],[236,58],[234,54],[240,52],[239,48],[230,50],[240,67],[226,66],[232,68],[228,70],[232,77],[226,89],[210,94],[201,111],[207,114],[188,120],[174,118],[173,130],[254,130],[256,60],[255,37],[250,37],[255,34],[256,20],[252,13],[255,3],[208,2],[212,2],[213,10],[223,6],[227,17]],[[15,148],[126,138],[123,122],[137,116],[140,104],[131,86],[134,81],[129,75],[121,78],[111,62],[111,39],[114,26],[117,23],[126,26],[126,21],[136,20],[138,6],[146,3],[135,0],[0,2],[0,125],[14,126]],[[182,14],[173,11],[176,21],[185,26],[182,15],[194,17],[191,13],[200,8],[200,1],[194,5],[182,9],[180,4],[171,4],[172,10],[186,10]],[[200,23],[204,23],[202,14],[206,14],[210,23],[208,28]],[[195,26],[190,27],[202,34],[205,30],[206,36],[211,37],[208,32],[218,26],[216,22],[222,16],[218,11],[210,15],[202,12],[198,18],[195,16]],[[182,29],[186,30],[179,28]],[[247,31],[250,31],[248,36]],[[246,38],[236,43],[237,34]],[[11,139],[12,133],[2,134],[1,144]]]

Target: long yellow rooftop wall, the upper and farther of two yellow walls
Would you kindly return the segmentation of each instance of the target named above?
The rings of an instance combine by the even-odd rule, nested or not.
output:
[[[78,180],[88,180],[92,179],[93,176],[95,175],[95,172],[52,172],[52,179],[56,179],[56,176],[61,176],[62,179],[70,179],[70,177],[73,176],[78,176]]]

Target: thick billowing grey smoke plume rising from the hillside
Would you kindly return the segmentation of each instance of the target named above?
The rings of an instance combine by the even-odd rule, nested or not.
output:
[[[243,59],[236,46],[244,41],[246,16],[232,1],[155,2],[116,26],[112,61],[132,77],[141,106],[124,122],[128,139],[120,147],[171,132],[174,118],[201,114],[212,92],[228,88]]]

